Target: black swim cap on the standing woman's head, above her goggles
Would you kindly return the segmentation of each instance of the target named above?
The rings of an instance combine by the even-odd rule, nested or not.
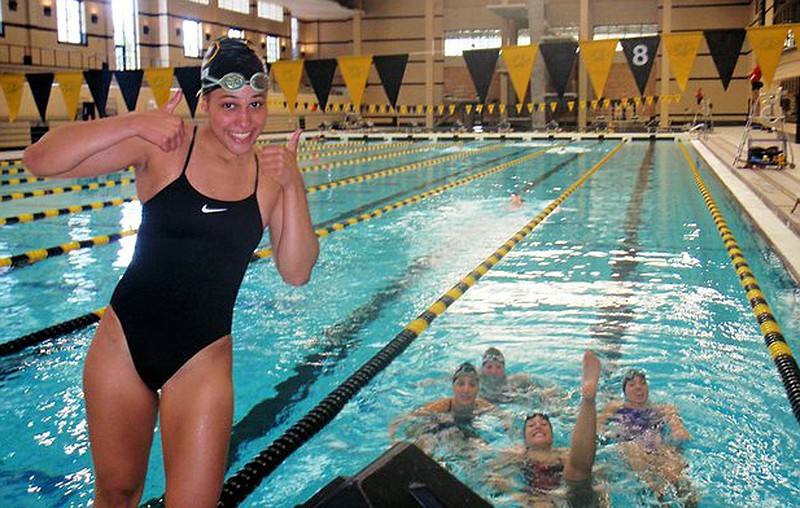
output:
[[[241,74],[245,81],[249,81],[253,74],[265,72],[264,62],[248,41],[220,37],[208,46],[203,57],[200,67],[202,93],[220,88],[218,83],[209,81],[207,77],[219,80],[230,72]]]

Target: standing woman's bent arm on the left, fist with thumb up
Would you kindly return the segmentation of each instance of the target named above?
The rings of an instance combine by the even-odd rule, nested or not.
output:
[[[56,127],[25,149],[25,167],[37,176],[77,178],[141,168],[153,154],[171,152],[184,143],[183,120],[172,114],[176,93],[164,109],[134,111],[89,122]]]

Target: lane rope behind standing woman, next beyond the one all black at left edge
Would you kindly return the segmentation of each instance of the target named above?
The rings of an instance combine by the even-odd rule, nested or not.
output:
[[[448,162],[448,161],[451,161],[451,160],[454,160],[454,159],[464,158],[464,157],[468,157],[468,156],[471,156],[471,155],[477,155],[477,154],[480,154],[480,153],[485,153],[485,152],[488,152],[488,151],[497,150],[501,146],[502,145],[495,145],[495,146],[491,146],[491,147],[488,147],[488,148],[475,150],[475,151],[459,152],[457,154],[453,154],[453,155],[446,156],[446,157],[439,157],[439,158],[436,158],[436,159],[428,159],[428,160],[425,160],[425,161],[415,162],[415,163],[412,163],[412,164],[405,164],[403,166],[398,166],[398,167],[395,167],[395,168],[389,168],[389,169],[375,171],[373,173],[367,173],[366,175],[359,175],[359,176],[354,176],[354,177],[351,177],[351,178],[345,178],[345,179],[342,179],[342,180],[336,180],[336,181],[333,181],[333,182],[328,182],[326,184],[317,185],[317,186],[313,186],[313,187],[308,187],[308,188],[306,188],[306,192],[308,194],[313,194],[314,192],[317,192],[319,190],[335,189],[337,187],[344,187],[345,185],[350,185],[350,184],[354,184],[354,183],[361,183],[361,182],[365,182],[367,180],[372,180],[372,179],[375,179],[375,178],[383,178],[385,176],[389,176],[389,175],[393,175],[393,174],[397,174],[397,173],[403,173],[403,172],[406,172],[406,171],[412,171],[414,169],[419,169],[419,168],[426,167],[426,166],[432,166],[432,165],[436,165],[436,164],[443,164],[445,162]],[[503,169],[505,169],[505,168],[503,168]],[[79,240],[79,241],[72,241],[72,242],[62,243],[62,244],[56,245],[54,247],[47,247],[47,248],[43,248],[43,249],[34,249],[34,250],[31,250],[31,251],[28,251],[28,252],[24,252],[22,254],[15,254],[15,255],[12,255],[12,256],[8,256],[8,257],[2,257],[2,258],[0,258],[0,268],[6,267],[9,270],[6,270],[4,272],[0,272],[0,277],[10,273],[11,269],[23,268],[23,267],[26,267],[26,266],[30,266],[30,265],[32,265],[34,263],[37,263],[39,261],[42,261],[44,259],[49,259],[49,258],[52,258],[52,257],[55,257],[55,256],[61,256],[61,255],[64,255],[64,254],[68,254],[68,253],[70,253],[70,252],[72,252],[74,250],[88,249],[88,248],[91,248],[91,247],[97,247],[99,245],[106,245],[106,244],[109,244],[109,243],[117,242],[117,241],[121,240],[122,238],[131,236],[131,235],[135,235],[138,231],[139,231],[138,228],[128,229],[128,230],[120,231],[120,232],[117,232],[117,233],[112,233],[112,234],[109,234],[109,235],[100,235],[100,236],[96,236],[94,238],[87,238],[86,240]],[[271,252],[271,250],[270,250],[270,252]],[[254,257],[262,258],[264,256],[259,256],[256,253],[256,254],[254,254]]]

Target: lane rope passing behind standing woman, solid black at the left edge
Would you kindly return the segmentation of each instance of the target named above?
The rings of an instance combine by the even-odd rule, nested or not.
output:
[[[383,214],[385,214],[387,212],[390,212],[392,210],[396,210],[396,209],[402,208],[402,207],[404,207],[406,205],[410,205],[412,203],[416,203],[418,201],[422,201],[425,198],[441,194],[442,192],[444,192],[447,189],[456,187],[458,185],[462,185],[464,183],[470,182],[470,181],[475,180],[477,178],[481,178],[483,176],[489,175],[491,173],[495,173],[497,171],[500,171],[502,169],[506,169],[508,167],[520,164],[522,162],[526,162],[528,160],[533,159],[534,157],[538,157],[539,155],[544,154],[545,152],[549,151],[552,148],[557,148],[558,146],[561,146],[561,145],[554,145],[552,147],[544,148],[544,149],[539,150],[537,152],[534,152],[532,154],[525,155],[524,157],[521,157],[520,159],[516,159],[516,160],[510,161],[508,163],[502,164],[500,166],[497,166],[495,168],[487,169],[486,171],[483,171],[481,173],[477,173],[475,175],[472,175],[472,176],[469,176],[469,177],[465,177],[465,178],[462,178],[460,180],[456,180],[455,182],[449,183],[447,185],[443,185],[441,187],[437,187],[435,189],[431,189],[431,190],[429,190],[427,192],[424,192],[422,194],[418,194],[416,196],[404,199],[402,201],[398,201],[397,203],[394,203],[392,205],[383,206],[381,208],[373,210],[370,213],[359,214],[356,217],[350,218],[350,219],[348,219],[346,221],[343,221],[343,222],[340,222],[340,223],[335,223],[335,224],[333,224],[333,225],[331,225],[329,227],[316,229],[315,233],[319,238],[323,238],[323,237],[328,236],[329,234],[331,234],[331,233],[333,233],[335,231],[341,231],[341,230],[345,229],[348,226],[352,226],[354,224],[358,224],[359,222],[364,222],[364,221],[367,221],[369,219],[372,219],[372,218],[375,218],[375,217],[379,217],[379,216],[381,216],[381,215],[383,215]],[[272,256],[272,249],[271,248],[260,249],[260,250],[257,250],[257,251],[255,251],[253,253],[253,257],[252,257],[251,261],[257,261],[259,259],[265,259],[265,258],[268,258],[270,256]],[[10,340],[8,342],[0,344],[0,357],[8,356],[10,354],[16,353],[17,351],[20,351],[20,350],[24,349],[25,347],[32,346],[32,345],[44,342],[45,340],[54,339],[54,338],[58,337],[59,334],[70,333],[70,332],[79,330],[79,329],[83,328],[84,326],[89,326],[90,324],[96,323],[97,319],[95,319],[95,316],[102,315],[102,312],[103,312],[102,310],[95,310],[95,311],[92,311],[92,312],[90,312],[88,314],[84,314],[82,316],[78,316],[76,318],[72,318],[72,319],[69,319],[67,321],[63,321],[61,323],[57,323],[57,324],[55,324],[53,326],[50,326],[48,328],[45,328],[45,329],[42,329],[42,330],[38,330],[38,331],[32,332],[30,334],[24,335],[22,337],[19,337],[19,338],[16,338],[16,339],[12,339],[12,340]]]

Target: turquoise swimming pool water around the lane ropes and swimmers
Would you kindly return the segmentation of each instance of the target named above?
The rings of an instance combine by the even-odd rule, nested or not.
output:
[[[330,231],[312,281],[290,288],[272,262],[254,261],[234,323],[236,406],[230,473],[280,437],[408,323],[495,252],[618,140],[417,141],[385,152],[332,155],[305,173],[312,218]],[[407,152],[409,148],[419,151]],[[502,165],[522,157],[524,162]],[[693,155],[694,156],[694,155]],[[362,158],[357,165],[326,162]],[[696,158],[696,156],[694,156]],[[437,159],[446,159],[435,164]],[[800,293],[777,258],[698,162],[758,278],[787,341],[800,344]],[[414,167],[415,166],[415,167]],[[336,188],[325,182],[406,167]],[[468,179],[471,175],[478,178]],[[440,189],[448,184],[459,185]],[[59,182],[61,184],[62,182]],[[37,184],[41,186],[41,184]],[[21,188],[24,186],[20,186]],[[20,188],[20,190],[21,190]],[[440,189],[431,195],[431,189]],[[132,186],[14,200],[0,216],[108,199]],[[512,209],[511,192],[525,204]],[[420,197],[422,196],[422,197]],[[362,214],[411,197],[365,220]],[[0,256],[135,228],[126,203],[0,228]],[[333,223],[358,223],[341,229]],[[341,230],[340,230],[341,229]],[[101,308],[132,254],[134,237],[74,251],[0,275],[0,340]],[[14,506],[83,506],[91,463],[80,389],[93,333],[66,337],[0,359],[3,383],[0,476]],[[557,445],[574,422],[580,358],[603,360],[599,404],[619,397],[622,372],[643,367],[654,400],[675,404],[694,439],[684,446],[701,506],[787,506],[800,496],[797,422],[764,347],[728,253],[672,141],[625,143],[500,262],[455,301],[370,382],[327,427],[288,457],[243,503],[294,506],[339,475],[356,473],[390,445],[389,421],[450,393],[462,361],[500,347],[509,370],[530,373],[572,396],[553,417]],[[507,405],[519,416],[531,408]],[[491,449],[516,442],[488,420]],[[158,437],[158,434],[157,434]],[[484,497],[485,468],[457,453],[438,457]],[[156,441],[144,499],[163,492]],[[598,477],[615,506],[652,497],[601,447]],[[513,506],[504,497],[492,498]]]

